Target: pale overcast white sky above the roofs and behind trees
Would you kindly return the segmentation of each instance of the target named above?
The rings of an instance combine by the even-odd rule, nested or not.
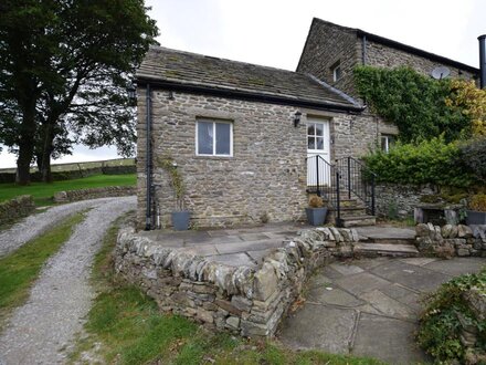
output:
[[[313,18],[359,28],[472,66],[486,33],[485,0],[146,0],[161,45],[294,71]],[[116,158],[88,149],[57,163]],[[54,163],[56,163],[54,161]],[[15,156],[0,154],[0,168]]]

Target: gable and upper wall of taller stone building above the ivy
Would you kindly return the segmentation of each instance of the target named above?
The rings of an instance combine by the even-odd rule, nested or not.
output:
[[[390,69],[408,65],[424,75],[444,66],[450,70],[451,77],[479,81],[476,67],[360,29],[314,18],[297,72],[310,73],[358,96],[352,76],[358,65]]]

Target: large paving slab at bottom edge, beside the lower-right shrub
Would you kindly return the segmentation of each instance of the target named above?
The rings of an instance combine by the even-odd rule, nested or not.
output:
[[[413,333],[418,325],[406,321],[361,313],[352,354],[371,356],[390,364],[427,362],[424,353],[414,345]]]

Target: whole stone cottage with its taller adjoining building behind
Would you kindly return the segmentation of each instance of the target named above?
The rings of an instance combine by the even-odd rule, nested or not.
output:
[[[342,180],[341,198],[351,198],[351,178],[336,177],[335,163],[349,166],[398,133],[350,96],[351,70],[360,63],[410,64],[425,73],[447,65],[461,77],[478,74],[319,19],[296,72],[151,48],[137,71],[139,228],[170,226],[178,199],[167,161],[183,181],[182,201],[194,227],[300,220],[316,186],[340,217],[336,181]],[[371,207],[369,194],[358,198]],[[362,208],[344,208],[350,215],[340,223],[372,222]]]

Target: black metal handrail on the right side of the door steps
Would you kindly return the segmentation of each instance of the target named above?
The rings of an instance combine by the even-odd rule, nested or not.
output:
[[[337,159],[336,165],[342,173],[342,182],[347,189],[348,199],[351,199],[351,197],[360,199],[364,202],[367,212],[374,216],[377,175],[367,169],[363,163],[350,156]]]

